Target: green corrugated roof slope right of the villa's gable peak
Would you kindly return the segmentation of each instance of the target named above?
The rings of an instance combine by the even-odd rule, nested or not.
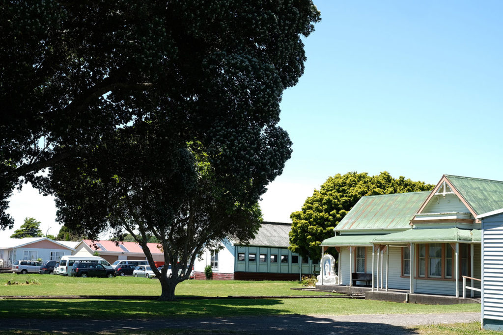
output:
[[[503,181],[445,176],[477,215],[503,207]]]

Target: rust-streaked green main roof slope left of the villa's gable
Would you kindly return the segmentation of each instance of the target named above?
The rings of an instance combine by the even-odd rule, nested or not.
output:
[[[337,230],[408,228],[409,221],[431,192],[362,197],[339,222]]]

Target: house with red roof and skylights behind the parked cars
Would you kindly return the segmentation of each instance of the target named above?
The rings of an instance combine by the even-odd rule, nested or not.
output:
[[[147,243],[148,249],[152,253],[154,262],[163,262],[164,254],[157,248],[156,243]],[[143,253],[143,249],[136,242],[120,242],[118,245],[113,241],[92,241],[82,240],[75,247],[74,255],[93,255],[95,252],[100,253],[100,257],[107,260],[110,264],[115,261],[135,260],[146,261],[147,258]]]

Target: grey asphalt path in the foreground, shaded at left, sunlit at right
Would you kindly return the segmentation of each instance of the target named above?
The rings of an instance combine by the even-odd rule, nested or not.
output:
[[[360,314],[360,315],[267,315],[204,318],[157,319],[0,319],[0,331],[12,329],[47,332],[89,333],[123,331],[141,333],[159,329],[181,333],[200,330],[216,333],[247,334],[414,334],[409,327],[421,324],[472,322],[479,312],[435,314]],[[20,327],[21,326],[21,327]]]

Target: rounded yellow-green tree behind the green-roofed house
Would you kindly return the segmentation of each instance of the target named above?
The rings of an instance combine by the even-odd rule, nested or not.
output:
[[[400,176],[395,179],[384,171],[377,176],[349,172],[329,177],[319,190],[314,190],[302,209],[290,215],[292,252],[314,261],[321,258],[321,242],[334,236],[333,228],[364,195],[429,191],[435,185],[412,181]]]

